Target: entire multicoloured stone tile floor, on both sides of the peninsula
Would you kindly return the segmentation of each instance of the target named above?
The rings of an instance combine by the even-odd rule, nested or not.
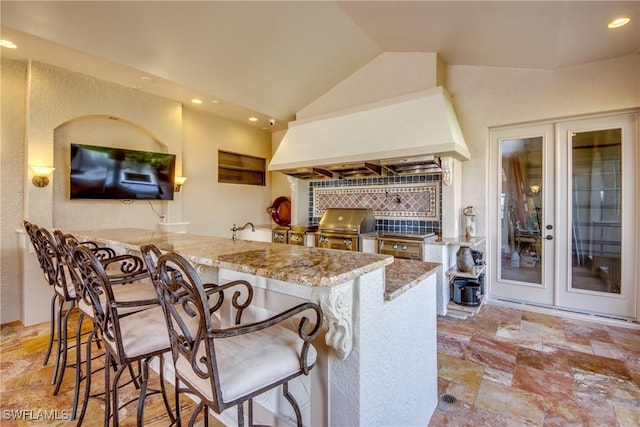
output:
[[[48,325],[16,322],[0,332],[0,425],[74,425],[62,419],[73,369],[51,396],[52,362],[42,366]],[[103,385],[97,377],[94,390]],[[638,427],[640,331],[493,305],[466,320],[438,317],[438,389],[455,402],[441,399],[429,426]],[[182,406],[186,421],[192,405],[184,399]],[[169,424],[158,396],[146,408],[145,426]],[[12,411],[60,419],[19,421]],[[134,411],[121,412],[122,426],[135,425]],[[84,425],[102,425],[103,415],[92,399]]]

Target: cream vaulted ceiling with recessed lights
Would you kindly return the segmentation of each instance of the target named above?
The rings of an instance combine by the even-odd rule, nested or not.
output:
[[[31,58],[281,128],[382,52],[554,70],[640,52],[638,1],[7,1]],[[631,23],[617,30],[619,16]],[[216,101],[215,103],[212,101]]]

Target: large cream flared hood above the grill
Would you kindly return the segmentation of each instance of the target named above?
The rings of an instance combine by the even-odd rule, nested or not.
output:
[[[441,86],[291,122],[269,170],[319,179],[353,176],[336,165],[367,162],[385,171],[418,173],[411,171],[425,168],[395,166],[424,163],[438,171],[437,157],[470,158],[450,96]]]

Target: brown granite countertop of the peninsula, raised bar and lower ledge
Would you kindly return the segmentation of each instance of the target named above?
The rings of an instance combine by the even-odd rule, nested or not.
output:
[[[385,300],[391,301],[441,268],[440,264],[306,246],[179,234],[139,228],[73,232],[81,240],[138,251],[155,244],[194,264],[268,277],[305,286],[333,286],[385,267]]]

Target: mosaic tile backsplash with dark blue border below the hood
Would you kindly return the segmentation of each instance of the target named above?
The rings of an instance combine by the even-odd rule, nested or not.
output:
[[[309,224],[327,208],[371,208],[379,231],[440,233],[441,174],[310,181]]]

